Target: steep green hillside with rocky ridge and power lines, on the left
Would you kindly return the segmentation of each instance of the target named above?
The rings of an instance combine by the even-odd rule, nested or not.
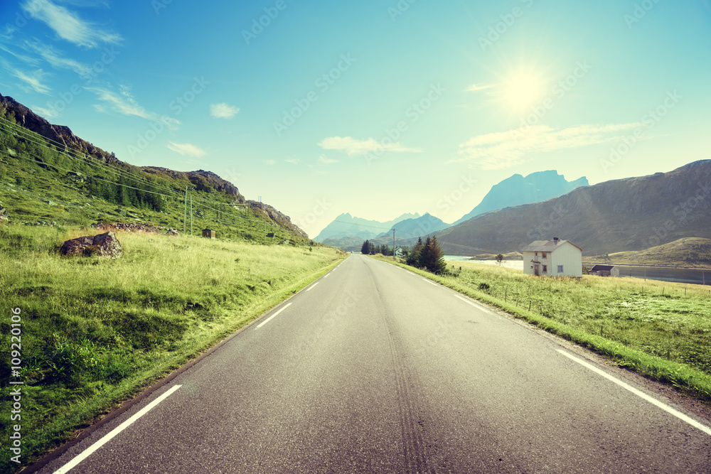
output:
[[[26,115],[18,117],[21,112]],[[41,122],[43,130],[61,133],[48,139],[19,126],[18,119]],[[310,242],[286,216],[245,202],[237,188],[213,173],[131,166],[78,139],[66,127],[51,126],[21,105],[3,102],[0,206],[11,222],[28,225],[130,222],[156,225],[164,232],[172,227],[181,234],[183,229],[189,234],[192,227],[200,235],[209,227],[220,239]]]

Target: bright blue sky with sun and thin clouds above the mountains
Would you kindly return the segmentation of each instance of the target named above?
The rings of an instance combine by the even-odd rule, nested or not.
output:
[[[708,0],[21,0],[0,93],[137,166],[205,169],[311,237],[454,222],[491,185],[711,158]]]

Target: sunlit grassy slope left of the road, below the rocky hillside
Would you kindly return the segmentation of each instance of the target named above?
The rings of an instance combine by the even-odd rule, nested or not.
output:
[[[124,256],[63,258],[55,227],[0,226],[2,386],[23,380],[23,464],[324,274],[328,247],[117,233]],[[92,232],[96,233],[96,232]],[[11,308],[21,311],[21,372],[11,376]],[[0,471],[9,460],[4,398]]]

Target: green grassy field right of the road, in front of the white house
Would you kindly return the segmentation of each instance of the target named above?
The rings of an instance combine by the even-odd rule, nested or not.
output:
[[[711,403],[711,297],[703,286],[449,263],[448,276],[397,264]]]

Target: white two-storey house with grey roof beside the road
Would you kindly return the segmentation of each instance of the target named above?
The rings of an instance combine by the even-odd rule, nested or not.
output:
[[[582,276],[582,249],[570,240],[536,240],[521,249],[523,273],[540,276]]]

